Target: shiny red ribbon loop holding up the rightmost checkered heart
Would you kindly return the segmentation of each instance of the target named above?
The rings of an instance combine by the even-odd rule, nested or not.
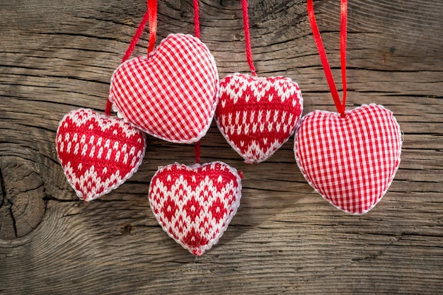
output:
[[[340,100],[337,87],[335,86],[335,81],[333,78],[332,71],[330,71],[328,57],[326,56],[325,47],[323,45],[323,41],[321,40],[320,31],[318,30],[318,25],[313,12],[313,0],[307,0],[307,4],[308,4],[309,22],[311,23],[313,38],[316,41],[318,54],[320,54],[321,64],[323,65],[323,70],[325,71],[326,80],[328,81],[329,84],[330,93],[333,96],[335,108],[337,108],[338,112],[340,112],[341,115],[345,115],[347,0],[341,0],[341,5],[340,5],[340,60],[341,60],[341,69],[342,69],[343,102]]]

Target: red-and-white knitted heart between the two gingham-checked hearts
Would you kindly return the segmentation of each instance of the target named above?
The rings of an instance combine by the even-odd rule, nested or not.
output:
[[[302,110],[300,88],[291,79],[233,74],[220,81],[215,120],[232,149],[252,164],[280,149],[294,133]]]

